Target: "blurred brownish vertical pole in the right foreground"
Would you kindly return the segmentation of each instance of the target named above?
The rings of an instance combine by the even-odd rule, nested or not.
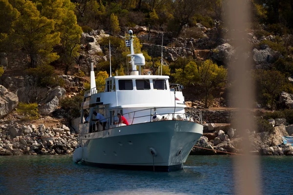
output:
[[[247,30],[251,27],[251,0],[225,0],[223,1],[225,13],[225,26],[229,29],[229,37],[232,46],[236,49],[236,60],[229,62],[229,79],[233,83],[231,99],[233,105],[239,108],[233,122],[237,133],[243,137],[244,156],[235,156],[234,178],[235,194],[259,195],[259,158],[250,155],[249,135],[246,130],[255,130],[253,116],[249,108],[253,108],[254,86],[250,79],[251,61],[248,58],[250,45],[247,41]]]

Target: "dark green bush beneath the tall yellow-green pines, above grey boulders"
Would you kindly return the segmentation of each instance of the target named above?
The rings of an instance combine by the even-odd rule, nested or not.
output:
[[[37,68],[29,68],[26,74],[36,79],[36,85],[41,87],[63,86],[62,78],[55,74],[54,67],[50,65],[42,65]]]

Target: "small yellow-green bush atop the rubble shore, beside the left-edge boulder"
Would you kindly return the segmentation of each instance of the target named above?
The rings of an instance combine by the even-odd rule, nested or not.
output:
[[[16,112],[24,115],[24,119],[38,119],[40,117],[37,103],[22,103],[19,102]]]

